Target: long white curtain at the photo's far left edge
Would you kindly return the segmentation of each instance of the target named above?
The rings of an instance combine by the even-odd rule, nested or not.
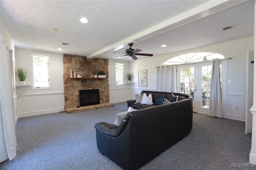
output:
[[[1,38],[0,56],[0,133],[1,162],[16,157],[16,134],[14,120],[14,100],[12,90],[12,74],[10,72],[9,51],[4,37]],[[2,139],[4,137],[4,139]]]

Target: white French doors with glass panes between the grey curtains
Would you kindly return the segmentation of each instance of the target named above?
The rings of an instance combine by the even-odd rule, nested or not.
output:
[[[212,62],[177,66],[177,91],[194,98],[193,111],[208,113]]]

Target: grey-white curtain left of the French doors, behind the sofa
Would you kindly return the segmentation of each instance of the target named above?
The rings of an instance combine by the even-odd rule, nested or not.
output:
[[[175,92],[175,69],[174,65],[158,66],[156,90],[159,92]]]

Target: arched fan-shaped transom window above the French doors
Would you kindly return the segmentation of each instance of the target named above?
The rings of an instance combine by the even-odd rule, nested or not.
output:
[[[162,65],[198,63],[202,61],[211,61],[212,59],[224,59],[224,56],[218,53],[208,52],[186,53],[172,57],[171,59],[164,61]]]

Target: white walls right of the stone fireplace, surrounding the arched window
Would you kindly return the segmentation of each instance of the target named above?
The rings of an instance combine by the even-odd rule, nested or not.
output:
[[[244,68],[243,62],[244,57],[246,57],[247,50],[254,49],[254,37],[246,37],[243,39],[237,39],[234,41],[227,41],[224,43],[218,43],[214,45],[208,45],[204,47],[199,47],[195,49],[179,51],[176,53],[169,53],[165,55],[148,57],[145,59],[138,59],[135,61],[130,61],[129,70],[133,74],[132,81],[135,84],[128,84],[124,88],[118,89],[112,86],[112,90],[110,91],[110,96],[113,97],[116,95],[120,95],[118,101],[126,101],[128,98],[135,99],[134,95],[139,94],[142,90],[156,90],[156,75],[157,70],[156,66],[159,66],[165,60],[174,57],[176,55],[190,53],[190,52],[216,52],[222,53],[226,57],[232,57],[231,60],[227,60],[228,68],[227,68],[227,80],[232,80],[232,84],[227,84],[226,91],[224,92],[224,100],[225,106],[224,111],[226,113],[225,117],[228,119],[235,119],[244,121],[244,88],[243,88],[243,76],[244,76]],[[109,69],[115,61],[110,60]],[[148,70],[148,86],[140,87],[138,86],[138,70]],[[110,71],[110,78],[114,78],[114,70]],[[110,80],[111,82],[112,80]],[[114,91],[116,93],[114,93]],[[117,101],[117,102],[118,102]],[[110,102],[114,102],[112,98],[110,98]],[[239,110],[235,110],[235,106],[239,107]]]

